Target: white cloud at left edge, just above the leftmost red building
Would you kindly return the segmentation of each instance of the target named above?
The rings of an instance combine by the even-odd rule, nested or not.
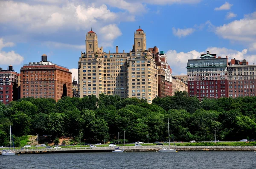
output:
[[[23,61],[23,57],[16,54],[15,51],[5,52],[2,48],[12,47],[15,44],[13,42],[4,42],[3,38],[0,38],[0,63],[1,65],[19,65]]]

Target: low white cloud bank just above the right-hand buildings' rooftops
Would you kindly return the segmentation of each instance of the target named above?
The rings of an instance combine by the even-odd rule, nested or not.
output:
[[[228,56],[228,60],[230,59],[246,59],[250,65],[256,63],[256,55],[248,54],[247,49],[243,49],[242,51],[236,51],[233,49],[227,48],[218,48],[218,47],[209,47],[205,51],[210,51],[212,54],[217,54],[217,56],[225,57]],[[200,59],[200,55],[204,54],[205,51],[189,51],[189,52],[177,52],[175,50],[169,50],[166,52],[167,61],[169,61],[169,65],[172,68],[173,75],[182,75],[187,72],[186,64],[188,59]],[[170,62],[171,61],[171,62]]]

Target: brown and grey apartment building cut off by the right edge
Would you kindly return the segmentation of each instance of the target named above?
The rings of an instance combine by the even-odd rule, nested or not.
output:
[[[228,96],[255,96],[256,65],[243,59],[231,59],[228,65]]]

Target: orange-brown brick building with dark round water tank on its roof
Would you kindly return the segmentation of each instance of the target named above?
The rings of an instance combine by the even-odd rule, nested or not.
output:
[[[68,68],[47,61],[42,55],[40,62],[29,62],[20,69],[21,98],[52,98],[72,97],[72,73]]]

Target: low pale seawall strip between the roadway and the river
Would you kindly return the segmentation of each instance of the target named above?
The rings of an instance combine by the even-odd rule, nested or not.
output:
[[[125,152],[148,152],[158,151],[168,146],[120,146]],[[172,146],[172,149],[175,147]],[[70,153],[70,152],[111,152],[113,147],[73,147],[61,149],[15,149],[15,154],[42,154],[42,153]],[[176,146],[179,151],[256,151],[256,146]]]

